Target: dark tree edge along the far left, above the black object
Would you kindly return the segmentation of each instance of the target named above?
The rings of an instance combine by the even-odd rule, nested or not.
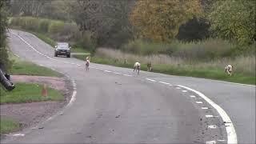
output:
[[[10,69],[10,61],[6,50],[7,2],[9,1],[0,1],[0,69],[3,71]]]

